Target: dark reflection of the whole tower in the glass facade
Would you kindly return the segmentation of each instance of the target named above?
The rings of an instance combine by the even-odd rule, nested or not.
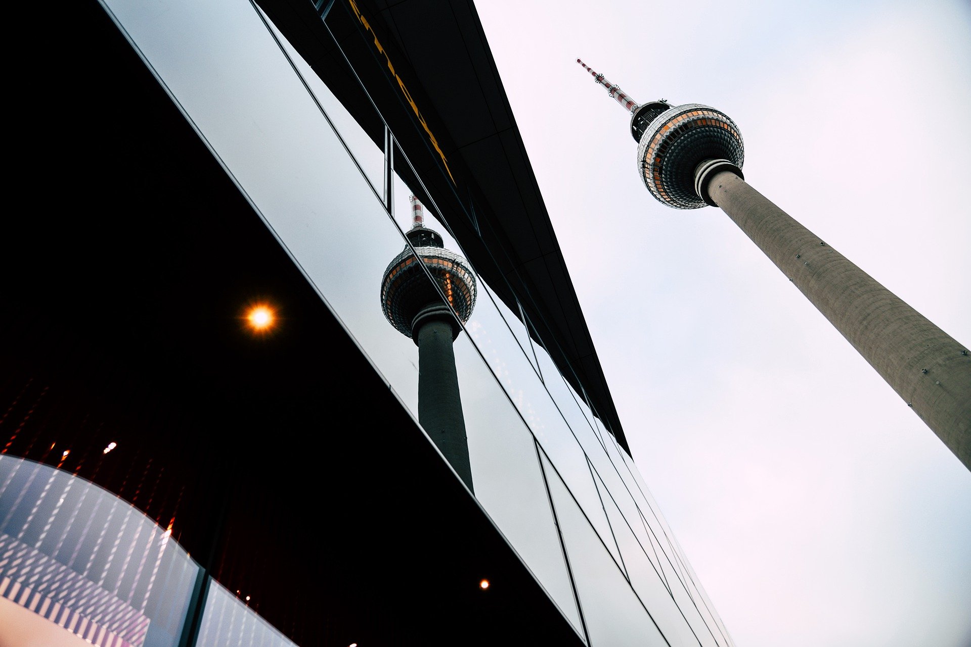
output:
[[[406,236],[411,246],[405,246],[385,271],[381,307],[391,325],[419,347],[419,422],[472,489],[452,341],[461,332],[458,320],[468,321],[475,307],[476,279],[465,259],[445,249],[442,237],[424,226],[415,196],[412,228]]]

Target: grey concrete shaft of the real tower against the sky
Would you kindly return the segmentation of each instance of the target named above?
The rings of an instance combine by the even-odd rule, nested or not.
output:
[[[971,469],[967,346],[733,172],[716,173],[707,193]]]

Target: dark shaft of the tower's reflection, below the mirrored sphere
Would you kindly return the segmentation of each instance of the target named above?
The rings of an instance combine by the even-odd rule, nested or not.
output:
[[[449,308],[423,309],[415,318],[414,337],[419,344],[419,422],[434,440],[465,485],[472,490],[469,443],[458,393],[458,373]]]

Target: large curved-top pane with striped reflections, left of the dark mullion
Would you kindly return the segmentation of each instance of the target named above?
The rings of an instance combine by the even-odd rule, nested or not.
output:
[[[169,530],[126,501],[0,456],[0,644],[22,644],[23,632],[73,644],[51,624],[101,647],[174,647],[198,572]]]

